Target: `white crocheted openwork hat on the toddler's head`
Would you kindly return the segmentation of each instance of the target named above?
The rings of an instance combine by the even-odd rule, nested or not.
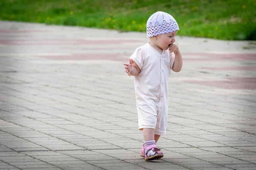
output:
[[[147,36],[153,37],[159,34],[170,33],[179,30],[178,23],[172,15],[157,11],[147,21]]]

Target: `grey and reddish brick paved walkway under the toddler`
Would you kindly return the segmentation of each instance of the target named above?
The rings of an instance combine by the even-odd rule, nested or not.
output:
[[[256,42],[178,37],[165,156],[139,155],[145,33],[0,22],[0,170],[256,170]]]

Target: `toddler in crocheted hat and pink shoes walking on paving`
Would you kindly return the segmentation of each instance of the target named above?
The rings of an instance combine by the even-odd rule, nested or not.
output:
[[[156,142],[166,134],[169,74],[182,67],[180,50],[174,44],[178,30],[170,14],[152,14],[147,21],[148,43],[134,51],[129,63],[124,63],[125,72],[134,76],[139,130],[143,130],[145,141],[140,156],[145,161],[163,157]]]

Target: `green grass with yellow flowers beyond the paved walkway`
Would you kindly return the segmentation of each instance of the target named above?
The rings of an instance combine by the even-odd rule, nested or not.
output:
[[[0,20],[146,31],[156,11],[171,14],[179,35],[256,40],[256,0],[0,0]]]

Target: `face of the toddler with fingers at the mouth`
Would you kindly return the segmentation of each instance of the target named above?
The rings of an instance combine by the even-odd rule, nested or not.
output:
[[[167,50],[169,46],[175,42],[176,34],[177,31],[157,35],[157,46],[159,46],[163,50]]]

